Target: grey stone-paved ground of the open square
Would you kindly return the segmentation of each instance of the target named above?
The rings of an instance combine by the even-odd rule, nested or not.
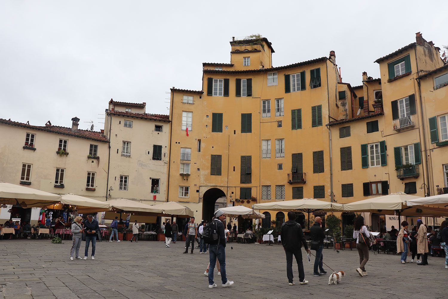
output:
[[[82,242],[80,252],[84,252]],[[401,264],[397,255],[370,255],[367,277],[355,273],[358,253],[324,249],[324,261],[347,275],[337,286],[328,276],[313,277],[313,259],[305,256],[308,285],[288,285],[281,245],[230,243],[227,273],[233,287],[208,289],[208,254],[182,254],[184,242],[166,248],[163,242],[101,242],[95,260],[69,260],[71,241],[2,240],[0,291],[6,299],[224,299],[224,298],[447,298],[448,269],[444,259],[428,258],[430,265]],[[233,247],[233,250],[230,247]],[[326,267],[325,267],[326,268]],[[293,266],[298,282],[297,266]],[[328,271],[330,271],[328,269]],[[0,297],[2,298],[2,297]]]

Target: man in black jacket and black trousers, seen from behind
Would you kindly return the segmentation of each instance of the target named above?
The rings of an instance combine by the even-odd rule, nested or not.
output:
[[[299,268],[299,282],[301,285],[306,285],[308,281],[305,280],[305,271],[303,270],[302,244],[306,252],[310,253],[311,251],[308,249],[302,227],[296,222],[296,213],[293,211],[288,212],[288,221],[281,226],[281,241],[286,253],[286,275],[289,285],[295,284],[293,281],[293,255]]]

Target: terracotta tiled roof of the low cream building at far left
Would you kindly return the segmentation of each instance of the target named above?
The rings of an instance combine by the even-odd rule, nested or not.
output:
[[[74,136],[74,137],[79,137],[79,138],[84,138],[84,139],[92,139],[92,140],[101,141],[101,142],[109,142],[109,140],[103,134],[101,134],[101,132],[95,132],[95,131],[89,131],[89,130],[73,131],[72,128],[61,127],[61,126],[32,126],[32,125],[24,124],[24,123],[18,122],[18,121],[11,121],[11,119],[7,120],[7,119],[2,119],[2,118],[0,118],[0,123],[4,123],[6,125],[11,125],[11,126],[19,126],[19,127],[28,128],[28,129],[46,131],[46,132],[50,132],[50,133],[69,135],[69,136]]]

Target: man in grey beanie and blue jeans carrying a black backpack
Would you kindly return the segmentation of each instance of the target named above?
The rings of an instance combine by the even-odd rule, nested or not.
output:
[[[226,236],[224,234],[224,224],[225,214],[223,211],[217,210],[215,212],[215,220],[213,222],[216,224],[216,233],[218,234],[218,239],[210,243],[208,250],[210,252],[210,267],[208,268],[208,287],[215,288],[216,284],[213,282],[213,270],[215,269],[216,259],[220,262],[221,266],[221,280],[222,287],[232,286],[233,282],[227,280],[225,272],[225,244]],[[214,231],[211,232],[212,234]]]

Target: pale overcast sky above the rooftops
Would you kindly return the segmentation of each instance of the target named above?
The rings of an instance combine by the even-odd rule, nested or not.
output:
[[[397,3],[396,3],[397,2]],[[200,5],[198,4],[200,3]],[[336,52],[344,82],[415,41],[448,44],[446,11],[424,1],[0,2],[0,118],[103,128],[113,98],[168,114],[171,87],[201,89],[202,62],[230,61],[232,36],[259,33],[274,66]],[[168,100],[167,100],[168,98]]]

